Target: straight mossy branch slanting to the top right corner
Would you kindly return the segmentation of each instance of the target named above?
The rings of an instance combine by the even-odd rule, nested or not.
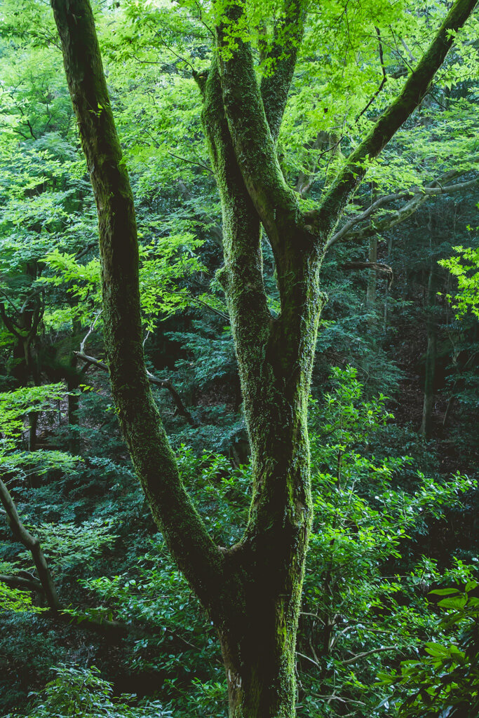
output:
[[[452,46],[455,32],[467,22],[477,1],[455,1],[416,70],[406,80],[399,97],[381,115],[366,139],[350,154],[348,162],[325,195],[315,216],[315,224],[322,232],[329,235],[334,230],[340,213],[366,174],[368,161],[381,152],[422,101],[432,78]]]

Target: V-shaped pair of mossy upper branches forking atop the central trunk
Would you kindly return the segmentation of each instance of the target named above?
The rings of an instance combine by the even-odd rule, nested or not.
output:
[[[276,258],[281,253],[284,236],[294,229],[297,241],[308,236],[310,239],[316,237],[324,247],[348,200],[366,174],[368,162],[381,152],[422,101],[452,46],[455,32],[467,22],[477,1],[455,1],[399,96],[350,154],[319,208],[307,215],[299,209],[297,197],[287,187],[279,167],[274,136],[256,81],[251,45],[238,39],[232,55],[230,53],[230,56],[222,58],[223,47],[228,47],[231,27],[241,21],[244,12],[242,3],[231,1],[226,4],[227,22],[217,28],[223,103],[241,174]],[[245,103],[248,104],[248,112],[243,111]]]

